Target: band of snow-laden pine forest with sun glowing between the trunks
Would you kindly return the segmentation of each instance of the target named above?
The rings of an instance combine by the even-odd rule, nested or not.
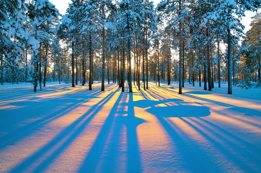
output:
[[[260,13],[245,34],[240,18],[259,1],[73,0],[65,15],[49,1],[2,1],[1,84],[93,81],[214,82],[260,86]],[[136,5],[135,5],[136,4]],[[138,5],[137,5],[138,4]],[[59,18],[60,16],[60,18]],[[240,40],[241,39],[241,40]],[[242,40],[243,39],[243,40]],[[132,81],[132,82],[129,82]]]

